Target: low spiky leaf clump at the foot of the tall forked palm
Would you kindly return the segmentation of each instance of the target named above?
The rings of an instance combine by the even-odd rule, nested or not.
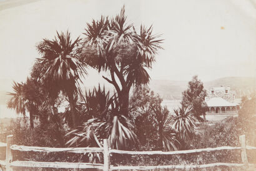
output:
[[[109,139],[114,149],[124,149],[137,142],[134,134],[134,125],[120,112],[120,105],[114,95],[109,98],[105,89],[86,93],[84,104],[86,115],[91,119],[84,122],[81,130],[72,130],[74,135],[67,144],[82,144],[101,146],[100,139]],[[68,135],[69,135],[68,134]]]

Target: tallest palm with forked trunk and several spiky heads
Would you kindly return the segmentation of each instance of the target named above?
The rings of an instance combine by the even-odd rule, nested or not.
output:
[[[99,72],[109,71],[124,116],[129,114],[129,92],[132,85],[148,84],[147,69],[152,67],[155,54],[162,47],[159,36],[152,34],[152,27],[140,27],[140,34],[133,24],[127,24],[124,7],[116,17],[101,17],[87,23],[82,57],[84,62]]]

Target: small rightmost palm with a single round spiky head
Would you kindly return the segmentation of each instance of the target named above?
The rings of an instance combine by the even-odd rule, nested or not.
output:
[[[192,106],[184,106],[174,109],[174,117],[170,122],[172,128],[179,133],[182,142],[182,148],[185,148],[185,142],[195,134],[195,117],[192,114]]]

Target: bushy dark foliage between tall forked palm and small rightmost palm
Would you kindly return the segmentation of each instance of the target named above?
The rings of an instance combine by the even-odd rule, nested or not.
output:
[[[147,87],[137,87],[130,99],[130,115],[137,128],[140,147],[153,150],[179,149],[179,132],[172,128],[169,110]]]

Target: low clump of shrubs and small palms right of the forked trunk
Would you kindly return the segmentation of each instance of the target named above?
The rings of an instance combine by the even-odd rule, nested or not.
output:
[[[157,150],[185,149],[195,134],[192,107],[181,105],[170,114],[162,107],[162,99],[148,87],[135,89],[130,99],[130,114],[136,125],[140,145],[151,145]]]

